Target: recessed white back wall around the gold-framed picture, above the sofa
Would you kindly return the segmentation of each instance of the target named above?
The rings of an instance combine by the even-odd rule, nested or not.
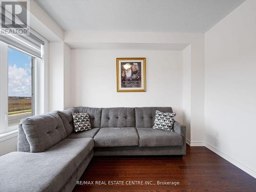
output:
[[[172,106],[182,122],[182,56],[168,50],[72,50],[72,105]],[[146,92],[117,93],[117,57],[146,57]]]

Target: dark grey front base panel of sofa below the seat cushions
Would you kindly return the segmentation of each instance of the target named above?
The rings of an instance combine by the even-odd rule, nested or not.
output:
[[[186,155],[183,146],[161,146],[161,147],[95,147],[95,156],[142,156],[142,155]]]

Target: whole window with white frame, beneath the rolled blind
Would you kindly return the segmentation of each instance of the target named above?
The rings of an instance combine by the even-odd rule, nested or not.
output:
[[[39,53],[30,51],[31,46],[21,49],[21,43],[0,37],[0,139],[3,139],[15,136],[17,132],[14,130],[21,119],[44,113],[47,109],[47,79],[44,59]]]

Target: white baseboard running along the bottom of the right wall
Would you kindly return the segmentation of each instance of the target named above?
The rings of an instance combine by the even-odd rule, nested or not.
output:
[[[232,157],[230,157],[227,154],[219,151],[217,148],[215,148],[214,146],[212,146],[208,143],[205,143],[205,147],[207,147],[210,151],[216,153],[217,155],[221,156],[223,159],[226,159],[228,162],[232,163],[234,166],[237,166],[238,168],[242,169],[245,173],[247,173],[250,176],[256,178],[256,172],[254,172],[254,170],[252,170],[251,168],[243,165],[242,163],[240,163],[236,159],[233,159]]]

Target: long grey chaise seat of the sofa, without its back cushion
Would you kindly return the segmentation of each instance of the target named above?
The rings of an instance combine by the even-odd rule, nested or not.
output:
[[[0,157],[0,191],[59,191],[93,146],[92,138],[64,139],[42,153],[4,155]]]

